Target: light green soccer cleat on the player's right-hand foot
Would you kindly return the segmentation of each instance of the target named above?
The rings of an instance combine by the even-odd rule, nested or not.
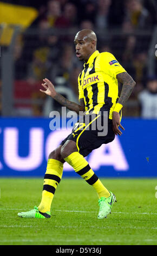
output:
[[[100,210],[99,210],[99,215],[97,216],[99,220],[101,220],[102,218],[107,218],[107,215],[111,213],[111,209],[114,202],[116,202],[115,195],[111,191],[109,192],[110,192],[110,197],[107,197],[107,198],[101,197],[99,199]]]

